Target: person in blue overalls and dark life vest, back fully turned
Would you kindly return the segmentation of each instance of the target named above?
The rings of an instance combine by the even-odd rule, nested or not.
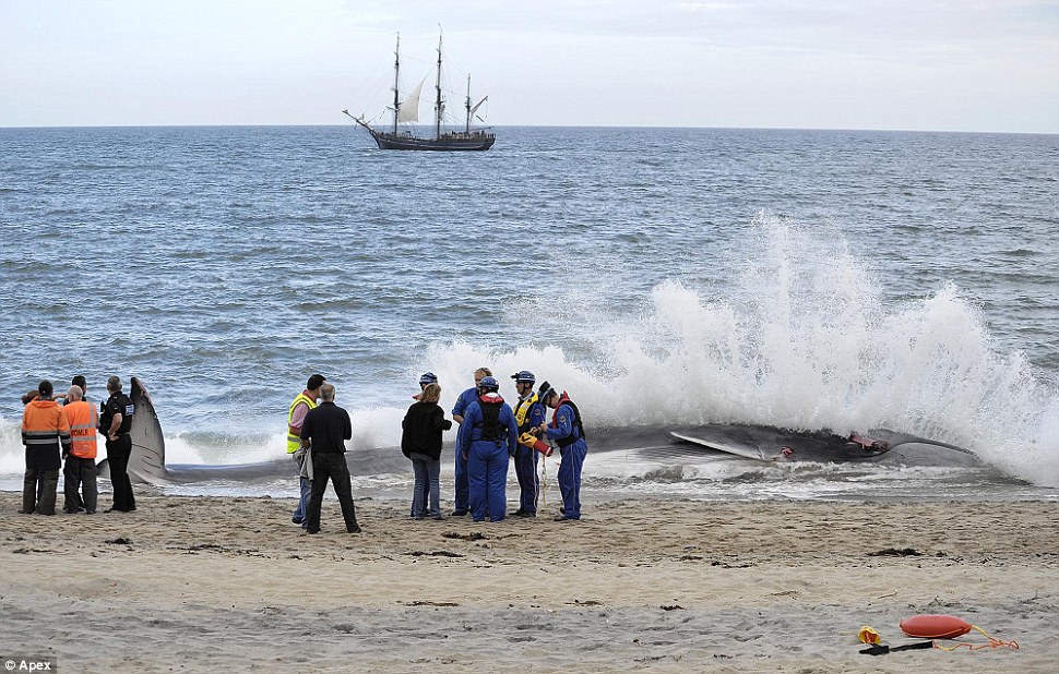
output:
[[[478,398],[464,410],[456,435],[456,453],[467,462],[468,504],[476,522],[503,521],[508,503],[508,460],[519,445],[519,424],[491,376],[478,382]]]

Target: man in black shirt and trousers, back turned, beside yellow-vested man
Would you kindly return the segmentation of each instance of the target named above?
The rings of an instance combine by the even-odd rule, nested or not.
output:
[[[342,505],[346,531],[360,533],[353,503],[353,483],[346,466],[345,442],[353,437],[349,413],[334,404],[334,386],[320,386],[320,406],[309,410],[301,424],[301,445],[309,448],[312,460],[312,491],[309,494],[309,533],[320,532],[320,507],[330,479]]]

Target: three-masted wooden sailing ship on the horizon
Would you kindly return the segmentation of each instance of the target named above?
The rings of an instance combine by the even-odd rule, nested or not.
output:
[[[464,128],[462,130],[459,128],[447,128],[442,130],[445,100],[441,95],[441,36],[438,36],[438,74],[435,81],[437,96],[433,104],[433,137],[424,137],[416,135],[413,131],[401,130],[398,128],[398,124],[419,121],[419,94],[423,92],[423,85],[426,82],[426,77],[424,77],[407,98],[401,100],[398,89],[400,76],[401,36],[397,35],[397,47],[394,50],[393,61],[393,127],[391,130],[382,131],[376,129],[371,127],[364,116],[354,117],[349,113],[349,110],[342,111],[346,117],[364,127],[371,134],[371,137],[374,139],[380,149],[481,151],[489,149],[496,143],[497,135],[495,133],[480,129],[472,130],[471,128],[471,122],[474,120],[478,108],[489,98],[486,96],[477,104],[471,105],[471,75],[467,75],[467,97],[465,103],[467,115]],[[481,118],[479,117],[478,119],[480,120]]]

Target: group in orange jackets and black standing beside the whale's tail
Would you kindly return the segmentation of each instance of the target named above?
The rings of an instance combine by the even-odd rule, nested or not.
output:
[[[96,435],[106,437],[107,464],[114,485],[114,505],[106,511],[136,509],[129,480],[132,455],[132,417],[135,406],[121,390],[121,380],[107,380],[108,398],[96,410],[88,401],[85,377],[73,377],[66,393],[55,395],[44,380],[22,397],[22,444],[26,448],[26,472],[22,485],[22,509],[31,515],[55,515],[59,469],[63,477],[63,511],[93,515],[98,505],[96,485]]]

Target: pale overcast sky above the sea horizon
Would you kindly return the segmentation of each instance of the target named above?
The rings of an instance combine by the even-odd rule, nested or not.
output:
[[[0,125],[348,123],[439,23],[497,125],[1059,133],[1059,0],[0,0]]]

